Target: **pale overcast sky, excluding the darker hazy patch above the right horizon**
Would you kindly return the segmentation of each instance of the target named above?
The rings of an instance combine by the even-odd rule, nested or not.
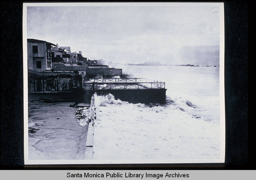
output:
[[[219,7],[28,7],[27,37],[70,46],[83,57],[176,64],[186,46],[215,46]]]

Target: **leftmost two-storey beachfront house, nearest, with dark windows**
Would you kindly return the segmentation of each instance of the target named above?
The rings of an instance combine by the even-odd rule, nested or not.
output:
[[[51,48],[55,44],[38,39],[27,39],[28,69],[46,71],[52,68]]]

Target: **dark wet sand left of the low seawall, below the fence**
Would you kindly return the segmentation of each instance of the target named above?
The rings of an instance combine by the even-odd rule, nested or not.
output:
[[[88,125],[77,122],[74,102],[35,99],[29,99],[29,159],[84,159]]]

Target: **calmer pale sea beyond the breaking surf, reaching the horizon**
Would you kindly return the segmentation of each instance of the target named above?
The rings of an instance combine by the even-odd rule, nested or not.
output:
[[[165,82],[167,100],[190,101],[195,113],[220,121],[219,67],[206,66],[123,66],[123,73],[148,81]],[[181,104],[182,106],[182,104]]]

